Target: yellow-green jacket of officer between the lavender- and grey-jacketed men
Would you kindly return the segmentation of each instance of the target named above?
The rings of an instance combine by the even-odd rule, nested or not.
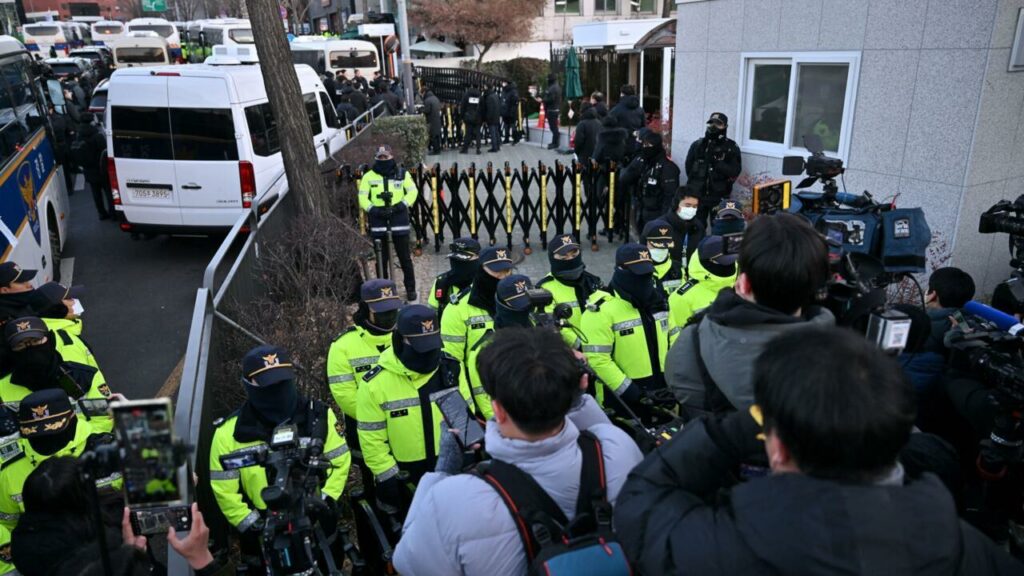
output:
[[[669,313],[654,314],[654,321],[660,371],[669,348]],[[583,313],[583,333],[587,338],[583,353],[604,384],[602,387],[621,396],[633,380],[654,374],[640,311],[613,292],[598,290],[590,297]],[[601,387],[597,393],[598,400],[603,401]]]

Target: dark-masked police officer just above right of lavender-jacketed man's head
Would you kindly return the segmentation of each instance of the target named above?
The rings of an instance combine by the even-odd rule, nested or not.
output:
[[[557,236],[548,244],[548,263],[551,273],[537,283],[538,288],[551,292],[552,302],[544,312],[554,314],[556,305],[568,304],[572,316],[568,319],[570,327],[562,328],[562,339],[579,349],[582,342],[577,331],[582,325],[583,311],[591,294],[600,290],[603,283],[587,272],[580,243],[571,235]]]

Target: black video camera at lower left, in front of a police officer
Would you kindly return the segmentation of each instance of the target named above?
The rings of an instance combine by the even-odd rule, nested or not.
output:
[[[269,446],[220,457],[224,470],[257,465],[269,470],[270,484],[260,497],[267,507],[263,558],[272,574],[318,574],[322,565],[328,574],[341,574],[321,521],[333,510],[321,494],[331,461],[324,458],[327,422],[319,419],[311,426],[311,438],[300,437],[294,424],[283,424],[273,429]]]

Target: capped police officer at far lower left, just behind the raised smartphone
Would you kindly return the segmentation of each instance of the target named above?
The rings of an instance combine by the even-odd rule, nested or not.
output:
[[[22,489],[39,464],[60,456],[78,458],[100,445],[115,442],[113,435],[99,433],[76,416],[68,395],[56,388],[26,397],[18,407],[17,420],[20,439],[13,450],[4,451],[0,464],[0,527],[5,529],[0,530],[0,549],[10,545],[10,532],[25,511]],[[102,491],[120,490],[121,475],[99,478],[96,487]],[[9,561],[0,559],[0,574],[11,571],[13,566]]]

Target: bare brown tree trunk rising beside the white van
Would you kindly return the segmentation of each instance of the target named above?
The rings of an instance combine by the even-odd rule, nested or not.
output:
[[[288,40],[282,30],[278,3],[246,0],[246,5],[267,99],[278,121],[281,153],[291,194],[295,195],[301,214],[326,216],[331,212],[327,190],[316,165],[313,134],[302,102],[302,90],[292,65]]]

